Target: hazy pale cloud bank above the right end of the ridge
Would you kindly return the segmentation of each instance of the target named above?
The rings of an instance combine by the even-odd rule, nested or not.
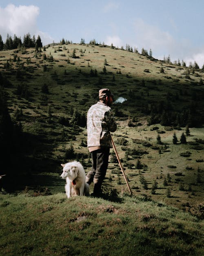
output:
[[[174,29],[176,30],[176,24]],[[188,39],[175,39],[168,31],[162,31],[159,27],[145,23],[142,19],[137,19],[133,23],[134,36],[131,38],[132,45],[140,51],[152,50],[153,57],[163,59],[164,55],[170,55],[171,61],[183,59],[186,64],[189,61],[196,61],[200,67],[204,63],[204,49],[196,49]]]

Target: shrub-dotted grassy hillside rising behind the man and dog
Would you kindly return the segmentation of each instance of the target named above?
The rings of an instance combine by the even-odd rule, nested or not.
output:
[[[4,190],[42,186],[51,193],[62,192],[60,163],[72,159],[82,162],[87,172],[91,161],[86,112],[97,102],[98,90],[108,87],[115,99],[127,99],[113,105],[118,122],[113,139],[133,194],[181,208],[202,203],[204,73],[200,70],[100,45],[68,44],[42,52],[1,51],[0,74],[14,130],[22,131],[17,142],[5,145],[8,159],[0,173],[7,174],[2,179]],[[181,144],[186,124],[190,134]],[[172,142],[174,132],[177,145]],[[127,192],[114,153],[104,185]]]

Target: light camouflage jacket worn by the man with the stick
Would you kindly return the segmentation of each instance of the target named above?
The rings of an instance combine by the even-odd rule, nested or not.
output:
[[[87,146],[112,147],[110,131],[116,131],[117,124],[111,108],[97,102],[87,113]]]

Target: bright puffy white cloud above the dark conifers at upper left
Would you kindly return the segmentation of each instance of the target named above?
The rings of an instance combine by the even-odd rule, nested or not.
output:
[[[53,39],[46,33],[40,32],[37,27],[37,17],[40,9],[37,6],[30,5],[7,5],[5,8],[0,7],[0,34],[5,41],[7,34],[21,37],[30,33],[31,36],[38,34],[43,44],[51,43]]]

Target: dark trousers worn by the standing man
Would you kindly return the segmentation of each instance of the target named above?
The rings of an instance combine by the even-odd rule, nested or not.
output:
[[[106,170],[109,162],[109,147],[103,147],[99,150],[91,152],[92,168],[86,175],[86,182],[101,186],[104,177],[106,176]]]

